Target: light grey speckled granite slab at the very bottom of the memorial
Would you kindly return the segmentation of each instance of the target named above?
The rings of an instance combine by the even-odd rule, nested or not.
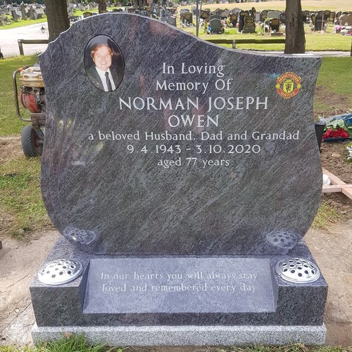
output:
[[[66,326],[33,327],[35,344],[59,339],[64,332],[83,332],[88,343],[110,346],[178,346],[286,344],[325,342],[326,327],[321,326]]]

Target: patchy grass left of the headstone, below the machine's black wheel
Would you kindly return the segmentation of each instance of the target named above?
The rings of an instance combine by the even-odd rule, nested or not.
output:
[[[0,208],[14,218],[0,227],[15,237],[51,225],[40,192],[40,158],[12,159],[0,165]]]

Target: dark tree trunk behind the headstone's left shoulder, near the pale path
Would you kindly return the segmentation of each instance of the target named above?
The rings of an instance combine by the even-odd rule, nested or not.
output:
[[[49,41],[55,40],[61,32],[70,28],[66,0],[44,0],[46,7]]]

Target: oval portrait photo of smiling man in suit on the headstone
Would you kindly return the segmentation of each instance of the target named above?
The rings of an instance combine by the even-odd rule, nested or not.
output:
[[[123,58],[110,37],[98,35],[92,38],[85,50],[84,63],[87,76],[96,88],[111,92],[120,85],[124,71]]]

